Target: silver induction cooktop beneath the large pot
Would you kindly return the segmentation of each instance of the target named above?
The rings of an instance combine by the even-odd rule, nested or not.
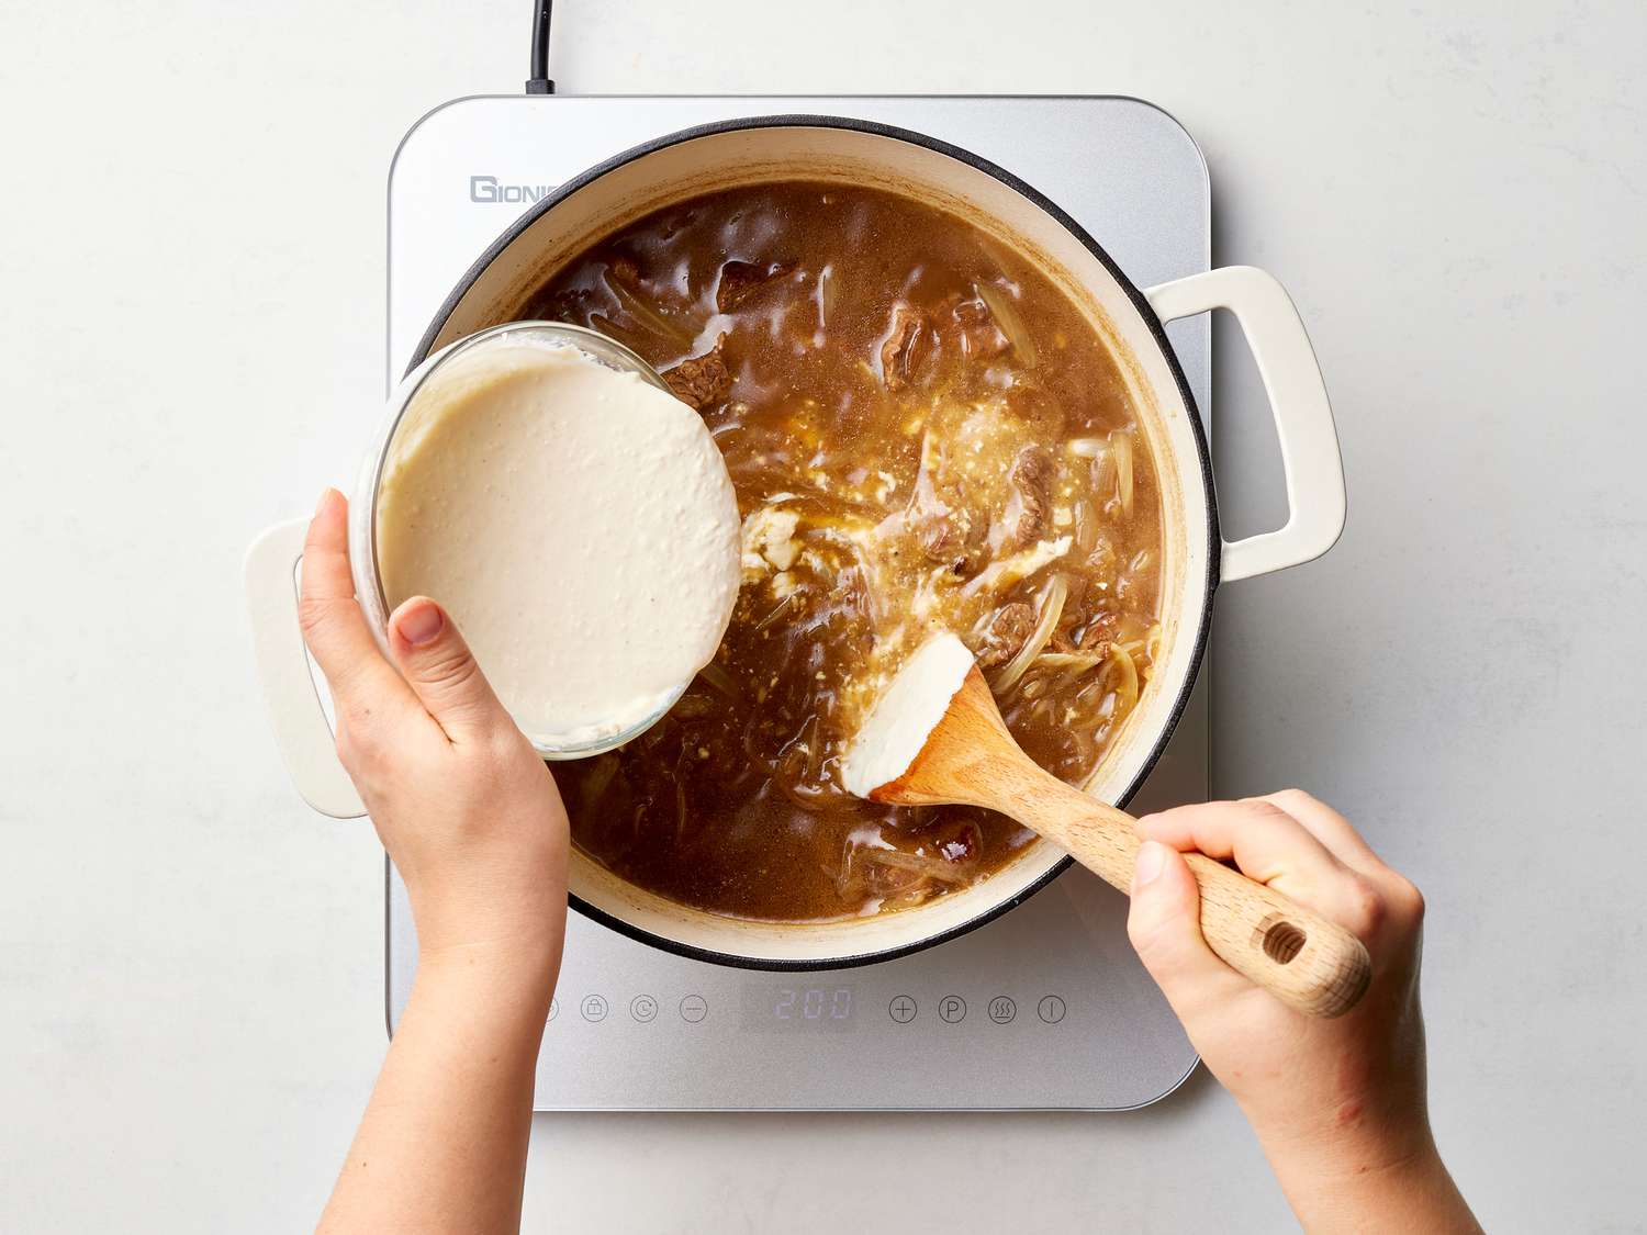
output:
[[[845,115],[965,147],[1046,193],[1138,287],[1209,268],[1206,163],[1122,97],[473,97],[425,115],[389,173],[394,385],[476,257],[555,184],[665,133],[735,117]],[[1202,415],[1209,318],[1168,334]],[[1133,800],[1207,797],[1206,667]],[[899,960],[824,973],[723,968],[578,912],[537,1065],[539,1110],[1128,1110],[1194,1049],[1127,942],[1127,901],[1080,868],[1010,914]],[[417,965],[387,871],[389,1029]]]

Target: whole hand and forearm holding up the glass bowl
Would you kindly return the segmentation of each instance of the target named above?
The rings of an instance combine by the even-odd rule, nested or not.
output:
[[[303,547],[303,637],[405,879],[418,976],[321,1230],[517,1230],[532,1075],[567,927],[567,812],[463,636],[415,596],[389,659],[354,599],[348,502]]]

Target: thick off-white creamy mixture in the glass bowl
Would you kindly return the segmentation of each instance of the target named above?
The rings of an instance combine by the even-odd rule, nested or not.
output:
[[[540,748],[659,713],[738,596],[738,502],[702,418],[520,333],[417,392],[377,494],[389,608],[432,596]]]

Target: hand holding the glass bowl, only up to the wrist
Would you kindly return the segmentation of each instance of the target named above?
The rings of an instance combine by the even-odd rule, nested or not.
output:
[[[568,850],[555,781],[435,601],[390,614],[394,664],[382,655],[354,599],[348,502],[331,489],[303,548],[301,622],[331,685],[338,757],[405,879],[420,958],[484,952],[550,981]]]

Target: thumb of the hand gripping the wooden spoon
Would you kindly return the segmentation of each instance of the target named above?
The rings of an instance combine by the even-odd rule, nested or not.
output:
[[[1186,1024],[1248,985],[1207,947],[1196,876],[1178,850],[1159,841],[1138,848],[1127,937]]]

